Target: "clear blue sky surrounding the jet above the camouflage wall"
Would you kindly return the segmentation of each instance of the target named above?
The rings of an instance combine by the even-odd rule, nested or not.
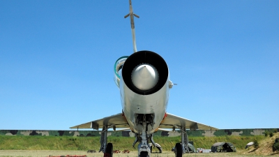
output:
[[[279,1],[133,0],[137,50],[160,54],[167,112],[220,129],[279,128]],[[0,1],[0,129],[70,130],[121,112],[128,0]]]

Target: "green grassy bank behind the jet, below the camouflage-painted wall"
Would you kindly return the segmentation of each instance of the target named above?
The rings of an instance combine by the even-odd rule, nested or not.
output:
[[[231,142],[236,150],[243,150],[248,142],[264,140],[264,136],[221,136],[221,137],[189,137],[195,148],[210,149],[216,142]],[[107,142],[114,144],[114,149],[137,151],[132,147],[133,137],[108,137]],[[180,137],[153,137],[153,140],[170,151]],[[135,145],[137,148],[137,144]],[[0,150],[60,150],[85,151],[100,149],[100,137],[69,137],[69,136],[6,136],[0,135]]]

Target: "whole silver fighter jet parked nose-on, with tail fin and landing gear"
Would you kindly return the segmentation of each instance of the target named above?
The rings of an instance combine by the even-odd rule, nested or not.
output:
[[[169,79],[169,68],[165,60],[156,52],[137,51],[135,45],[135,23],[132,2],[130,1],[130,24],[133,34],[134,53],[130,56],[120,57],[114,63],[114,82],[119,87],[122,112],[71,128],[102,128],[100,138],[100,151],[104,156],[113,156],[113,144],[107,143],[107,130],[109,128],[129,128],[135,133],[135,142],[139,142],[138,156],[151,156],[150,144],[158,146],[153,140],[153,133],[160,129],[179,129],[181,142],[175,145],[175,156],[181,157],[188,152],[188,135],[190,130],[218,130],[196,121],[184,119],[166,112],[169,100],[169,90],[174,84]],[[99,152],[100,152],[99,151]]]

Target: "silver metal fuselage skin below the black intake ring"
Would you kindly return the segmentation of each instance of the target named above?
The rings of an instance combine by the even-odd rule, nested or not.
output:
[[[123,114],[131,130],[135,133],[142,133],[142,127],[135,124],[135,114],[154,114],[153,128],[149,126],[147,130],[148,134],[154,133],[165,117],[169,99],[169,81],[165,82],[165,85],[154,94],[140,95],[130,90],[121,79],[120,94]]]

